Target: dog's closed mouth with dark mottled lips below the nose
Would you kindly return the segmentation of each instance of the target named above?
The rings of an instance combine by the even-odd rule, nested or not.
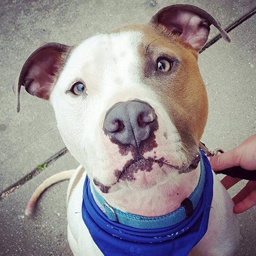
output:
[[[135,173],[138,173],[139,171],[145,171],[150,172],[153,170],[153,165],[157,164],[160,168],[163,166],[166,166],[168,169],[178,171],[179,173],[187,173],[190,171],[193,171],[198,166],[198,162],[193,162],[188,166],[182,165],[181,167],[178,165],[173,165],[166,161],[164,157],[161,157],[159,159],[148,157],[148,158],[137,158],[137,159],[130,159],[123,167],[122,170],[116,170],[115,171],[115,177],[116,182],[112,183],[110,186],[103,185],[98,179],[93,179],[93,183],[95,186],[97,186],[102,193],[109,193],[109,190],[111,187],[116,185],[119,181],[134,181]],[[163,169],[164,171],[164,169]]]

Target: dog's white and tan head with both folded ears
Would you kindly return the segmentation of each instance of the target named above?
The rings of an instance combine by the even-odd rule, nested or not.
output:
[[[207,118],[198,51],[212,16],[190,5],[159,11],[77,46],[45,44],[30,55],[17,83],[50,99],[70,153],[102,192],[146,189],[190,172]]]

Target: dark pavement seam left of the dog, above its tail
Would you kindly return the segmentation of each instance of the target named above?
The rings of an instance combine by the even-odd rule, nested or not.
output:
[[[0,194],[0,201],[4,199],[6,196],[10,195],[13,193],[14,190],[19,188],[20,186],[24,185],[27,183],[29,180],[33,179],[37,174],[41,173],[44,170],[47,170],[47,167],[50,166],[52,163],[57,161],[61,156],[65,155],[68,153],[68,149],[62,148],[58,153],[55,155],[51,156],[49,159],[47,159],[41,166],[43,167],[36,167],[33,171],[31,171],[29,174],[27,174],[25,177],[21,178],[19,181],[15,182],[13,185],[11,185],[9,188],[5,189],[1,194]],[[46,169],[45,169],[46,167]]]

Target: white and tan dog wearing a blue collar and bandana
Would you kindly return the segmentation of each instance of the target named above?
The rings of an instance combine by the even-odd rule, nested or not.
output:
[[[208,105],[197,59],[210,25],[230,41],[206,11],[171,5],[146,25],[122,27],[76,46],[42,45],[23,65],[14,86],[17,110],[21,86],[49,100],[61,137],[81,164],[39,186],[26,213],[32,212],[45,188],[70,179],[68,242],[74,255],[235,253],[239,230],[233,202],[212,171],[202,171],[207,158],[198,151]],[[209,191],[198,192],[205,182]],[[193,193],[200,195],[196,206]],[[204,231],[185,236],[199,204],[204,204]],[[178,214],[178,221],[173,217],[177,209],[185,214]],[[165,217],[170,217],[169,225],[163,224]],[[106,223],[106,230],[94,223],[95,218]],[[197,221],[202,224],[200,218]],[[188,231],[179,229],[181,236],[178,231],[166,233],[170,223],[177,227],[185,222]],[[113,234],[107,231],[111,228]],[[144,234],[143,241],[155,238],[157,243],[136,243],[133,239],[142,239],[140,228],[143,234],[154,229],[167,235]],[[114,235],[117,231],[132,238],[124,241],[123,234]]]

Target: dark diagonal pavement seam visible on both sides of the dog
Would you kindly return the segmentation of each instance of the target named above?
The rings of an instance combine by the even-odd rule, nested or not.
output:
[[[251,12],[245,14],[243,17],[239,18],[237,21],[235,21],[233,24],[231,24],[229,27],[227,27],[225,30],[227,32],[230,32],[231,30],[235,29],[239,25],[241,25],[244,21],[251,18],[254,14],[256,14],[256,8],[254,8]],[[202,53],[206,49],[208,49],[210,46],[212,46],[214,43],[218,42],[221,38],[221,35],[217,35],[211,39],[202,49],[199,51],[199,53]],[[47,159],[42,166],[50,166],[52,163],[57,161],[61,156],[65,155],[68,152],[68,149],[65,147],[61,149],[57,154],[53,155],[49,159]],[[44,169],[38,169],[37,167],[31,171],[29,174],[27,174],[25,177],[20,179],[19,181],[15,182],[14,185],[11,185],[9,188],[5,189],[2,194],[0,195],[0,201],[2,201],[3,198],[5,198],[7,195],[10,195],[14,190],[28,182],[29,180],[33,179],[37,174],[41,173]]]

